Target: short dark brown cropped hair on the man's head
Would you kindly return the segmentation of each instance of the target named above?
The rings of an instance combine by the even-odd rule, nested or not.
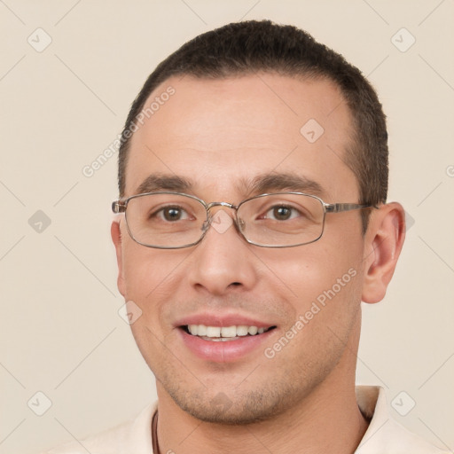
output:
[[[271,72],[333,81],[353,119],[354,134],[345,162],[357,178],[360,203],[377,205],[387,200],[388,151],[386,117],[377,93],[359,69],[339,53],[317,43],[305,31],[270,20],[231,23],[198,35],[163,60],[149,75],[132,103],[121,134],[118,184],[125,192],[131,126],[147,98],[160,83],[174,75],[200,79]],[[337,159],[337,158],[336,158]],[[364,231],[369,210],[363,210]]]

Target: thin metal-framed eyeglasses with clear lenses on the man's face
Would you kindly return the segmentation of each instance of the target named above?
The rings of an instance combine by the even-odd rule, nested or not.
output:
[[[235,210],[232,222],[252,245],[295,247],[322,237],[326,213],[372,205],[325,203],[317,196],[302,192],[261,194],[239,205],[206,203],[181,192],[147,192],[112,203],[114,213],[125,213],[132,239],[145,247],[159,249],[192,247],[200,243],[209,227],[216,223],[210,212],[213,207]]]

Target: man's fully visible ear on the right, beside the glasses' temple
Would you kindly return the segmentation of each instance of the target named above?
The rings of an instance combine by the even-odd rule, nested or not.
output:
[[[393,277],[405,239],[405,211],[392,202],[372,211],[365,233],[364,302],[381,301]]]

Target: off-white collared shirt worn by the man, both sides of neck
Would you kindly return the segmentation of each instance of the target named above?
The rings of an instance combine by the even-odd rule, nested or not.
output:
[[[356,387],[359,408],[372,417],[356,454],[448,454],[435,448],[391,418],[382,387]],[[136,419],[81,442],[69,442],[43,454],[153,454],[152,419],[157,403],[145,407]]]

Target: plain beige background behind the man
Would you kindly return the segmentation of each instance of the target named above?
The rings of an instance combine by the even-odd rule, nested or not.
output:
[[[0,453],[80,439],[154,399],[153,375],[117,313],[116,155],[91,177],[82,168],[112,144],[169,52],[226,22],[262,18],[307,29],[380,92],[389,199],[414,224],[385,301],[364,307],[357,381],[385,387],[396,419],[452,450],[453,14],[452,0],[0,0]],[[38,27],[51,36],[44,50]],[[402,27],[416,39],[406,51]],[[38,391],[52,403],[43,416]]]

